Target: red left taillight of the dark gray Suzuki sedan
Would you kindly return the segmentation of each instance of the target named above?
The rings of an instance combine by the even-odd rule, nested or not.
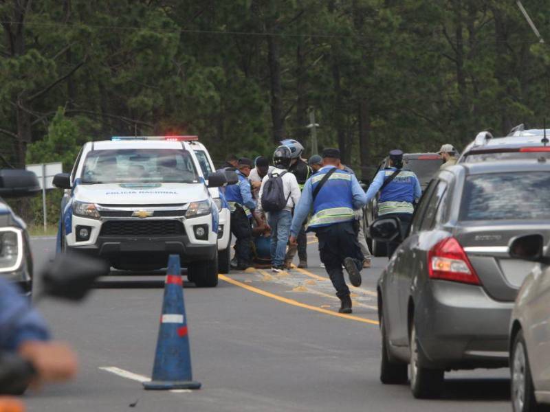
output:
[[[464,249],[455,238],[445,238],[428,252],[428,275],[432,279],[481,285]]]

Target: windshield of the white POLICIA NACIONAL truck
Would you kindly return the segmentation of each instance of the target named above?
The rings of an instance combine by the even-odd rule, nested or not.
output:
[[[170,149],[92,150],[82,183],[197,183],[190,153]]]

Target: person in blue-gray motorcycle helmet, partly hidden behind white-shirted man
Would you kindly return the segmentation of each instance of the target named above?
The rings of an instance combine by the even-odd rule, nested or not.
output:
[[[299,141],[294,139],[285,139],[281,141],[283,146],[287,146],[290,149],[290,167],[288,171],[296,176],[298,186],[300,190],[303,190],[305,182],[311,175],[311,169],[305,159],[302,159],[302,153],[304,152],[304,146]],[[298,243],[289,245],[287,255],[285,256],[285,267],[290,268],[292,260],[296,255],[296,249],[298,250],[298,268],[307,268],[307,236],[305,236],[305,227],[302,227],[300,233],[298,233]]]

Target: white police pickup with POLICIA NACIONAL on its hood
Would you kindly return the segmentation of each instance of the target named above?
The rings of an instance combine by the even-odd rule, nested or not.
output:
[[[190,145],[196,139],[113,137],[85,144],[72,173],[54,178],[54,185],[66,189],[58,251],[98,255],[132,271],[166,267],[175,253],[191,282],[216,286],[225,201],[210,190],[226,178],[210,174],[206,183]],[[228,247],[228,241],[222,245]]]

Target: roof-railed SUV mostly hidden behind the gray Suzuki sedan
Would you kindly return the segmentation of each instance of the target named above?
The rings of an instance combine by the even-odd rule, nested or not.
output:
[[[510,130],[506,137],[493,137],[487,131],[478,133],[476,139],[462,152],[458,163],[481,163],[494,160],[550,158],[550,130],[525,129],[523,124]]]

